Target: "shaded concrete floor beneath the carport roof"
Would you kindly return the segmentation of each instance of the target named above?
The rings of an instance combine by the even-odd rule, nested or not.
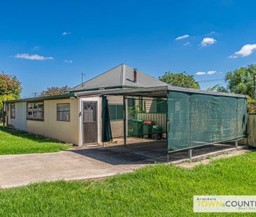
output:
[[[105,144],[105,147],[87,147],[78,149],[75,152],[106,163],[166,163],[167,162],[167,140],[148,140],[141,137],[127,138],[127,145],[122,140],[117,143]],[[242,147],[240,147],[242,148]],[[223,151],[236,150],[234,144],[212,144],[205,147],[192,149],[192,159],[204,156],[211,156]],[[169,154],[169,162],[189,159],[188,151],[178,151]]]

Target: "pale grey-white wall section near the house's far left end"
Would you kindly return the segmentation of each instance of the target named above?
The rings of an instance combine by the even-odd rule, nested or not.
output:
[[[15,103],[15,119],[10,119],[10,124],[17,130],[27,131],[27,103]]]

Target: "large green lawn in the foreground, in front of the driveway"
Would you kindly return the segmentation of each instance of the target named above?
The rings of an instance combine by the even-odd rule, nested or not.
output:
[[[241,216],[194,214],[193,195],[255,195],[255,171],[253,152],[192,169],[156,165],[102,181],[32,184],[0,190],[0,216]]]

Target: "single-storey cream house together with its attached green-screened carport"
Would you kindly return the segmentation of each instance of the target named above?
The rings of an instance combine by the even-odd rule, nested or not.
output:
[[[247,97],[172,87],[121,64],[58,96],[7,101],[6,123],[80,147],[155,132],[168,152],[190,151],[245,137]]]

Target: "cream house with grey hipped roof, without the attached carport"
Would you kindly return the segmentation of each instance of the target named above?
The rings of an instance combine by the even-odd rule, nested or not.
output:
[[[8,126],[83,146],[101,143],[101,102],[106,91],[167,87],[121,64],[58,96],[7,101]],[[107,95],[113,137],[123,136],[123,96]],[[147,105],[148,106],[148,105]]]

